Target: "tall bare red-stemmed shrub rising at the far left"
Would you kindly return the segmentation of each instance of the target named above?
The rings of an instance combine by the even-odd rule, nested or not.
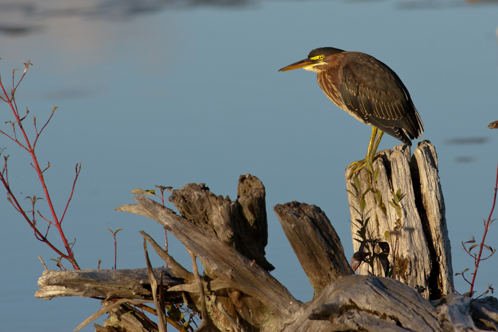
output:
[[[24,75],[26,74],[26,71],[29,67],[29,61],[26,63],[26,69],[24,70],[19,82],[17,82],[17,85],[14,86],[14,78],[13,78],[13,75],[12,75],[12,90],[11,90],[11,95],[10,95],[10,98],[8,97],[7,95],[7,92],[5,91],[5,88],[3,87],[3,83],[1,82],[1,79],[0,79],[0,87],[1,87],[1,90],[3,91],[4,95],[5,95],[5,99],[1,98],[4,102],[6,102],[9,106],[10,106],[10,109],[12,110],[12,113],[14,114],[14,117],[15,117],[15,122],[13,123],[12,127],[14,129],[14,132],[15,132],[15,123],[17,123],[17,125],[19,126],[19,129],[21,130],[22,132],[22,135],[24,137],[24,141],[26,142],[26,146],[23,146],[18,140],[17,140],[17,137],[15,137],[14,141],[19,144],[21,147],[24,147],[28,153],[31,155],[31,159],[33,160],[33,168],[35,169],[36,173],[38,174],[38,178],[40,180],[40,183],[43,187],[43,192],[45,194],[45,199],[46,199],[46,202],[48,204],[48,207],[50,209],[50,212],[52,214],[52,218],[53,218],[53,223],[55,224],[55,226],[57,227],[57,230],[59,231],[59,234],[61,235],[61,238],[62,238],[62,241],[64,243],[64,247],[66,248],[66,251],[67,251],[67,255],[65,254],[62,254],[62,252],[60,252],[59,250],[57,250],[47,239],[45,236],[43,236],[39,231],[38,229],[36,228],[36,226],[34,225],[33,222],[31,222],[29,220],[29,218],[27,218],[27,216],[25,215],[25,213],[23,212],[22,208],[20,207],[19,203],[17,202],[17,200],[15,199],[13,193],[10,191],[9,189],[9,186],[8,186],[8,183],[6,181],[6,179],[3,178],[3,176],[1,177],[1,181],[3,183],[3,185],[5,186],[5,188],[7,189],[7,194],[8,196],[13,200],[13,202],[15,202],[15,206],[14,207],[17,207],[17,209],[19,209],[19,211],[22,211],[21,214],[24,215],[24,218],[28,221],[28,223],[31,225],[31,227],[33,227],[33,229],[35,230],[36,234],[40,235],[40,239],[47,243],[49,245],[50,248],[52,248],[55,252],[57,252],[57,254],[61,255],[61,257],[69,260],[69,262],[73,265],[73,267],[77,270],[80,269],[80,267],[78,266],[78,264],[76,263],[76,260],[74,258],[74,253],[71,249],[71,246],[64,234],[64,231],[62,230],[62,227],[61,227],[61,221],[62,220],[59,220],[57,218],[57,214],[55,213],[55,210],[54,210],[54,206],[52,204],[52,200],[50,199],[50,195],[48,193],[48,189],[47,189],[47,185],[45,183],[45,179],[43,177],[43,171],[38,163],[38,158],[36,157],[36,154],[34,152],[34,147],[31,146],[31,143],[29,141],[29,138],[26,134],[26,131],[24,130],[24,127],[22,126],[22,122],[21,122],[21,118],[19,116],[19,111],[17,110],[17,105],[15,104],[15,100],[14,100],[14,93],[15,93],[15,90],[17,89],[17,87],[19,86],[20,82],[22,81],[22,79],[24,78]],[[54,110],[55,111],[55,110]],[[52,115],[53,115],[53,111],[52,111]],[[51,118],[52,116],[50,116]],[[50,120],[50,118],[48,119],[48,121]],[[48,122],[47,121],[47,122]],[[45,124],[46,125],[46,124]],[[45,125],[42,127],[42,130],[43,128],[45,127]],[[40,132],[42,131],[40,130]],[[36,138],[35,138],[35,142],[38,140],[38,137],[39,137],[39,134],[40,132],[38,132],[36,134]],[[78,173],[76,175],[76,178],[78,178]],[[74,185],[73,185],[73,191],[74,191]],[[72,196],[72,193],[71,192],[71,196]],[[69,199],[71,200],[71,198]],[[68,202],[69,204],[69,202]],[[67,208],[67,206],[66,206]]]

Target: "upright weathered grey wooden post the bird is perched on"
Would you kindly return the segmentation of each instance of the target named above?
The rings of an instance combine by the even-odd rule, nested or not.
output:
[[[418,144],[413,156],[407,145],[395,146],[394,150],[383,150],[381,157],[373,163],[373,169],[379,173],[375,185],[382,195],[387,208],[384,216],[378,202],[370,191],[366,197],[364,219],[370,217],[367,234],[371,239],[380,239],[389,244],[397,241],[398,280],[410,287],[423,287],[428,291],[422,293],[426,299],[440,299],[451,292],[453,284],[453,269],[451,265],[451,247],[446,227],[443,192],[439,182],[437,155],[434,146],[429,141]],[[350,169],[346,170],[346,185],[354,193],[353,180],[348,179]],[[360,172],[362,187],[369,188],[367,169]],[[401,200],[402,218],[398,235],[394,234],[396,227],[396,212],[389,200],[393,193],[401,190],[404,198]],[[351,231],[358,238],[357,219],[361,219],[360,202],[352,193],[348,194],[351,211]],[[386,239],[385,233],[390,233]],[[396,238],[397,237],[397,238]],[[360,243],[353,240],[355,251]],[[391,254],[392,248],[391,245]],[[392,263],[391,255],[389,255]],[[358,269],[360,274],[368,274],[367,264]],[[375,275],[383,275],[379,264],[376,264]]]

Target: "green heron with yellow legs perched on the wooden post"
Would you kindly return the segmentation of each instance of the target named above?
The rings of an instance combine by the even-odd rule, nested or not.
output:
[[[318,73],[318,85],[337,107],[372,126],[367,157],[351,164],[355,167],[350,177],[372,164],[384,132],[410,146],[411,139],[422,135],[424,126],[408,90],[396,73],[374,57],[322,47],[279,72],[297,68]]]

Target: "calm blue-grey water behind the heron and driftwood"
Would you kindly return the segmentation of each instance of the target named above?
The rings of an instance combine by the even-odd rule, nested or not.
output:
[[[83,164],[64,225],[77,238],[82,268],[96,268],[98,259],[113,266],[106,228],[124,229],[118,268],[144,266],[138,230],[161,239],[155,222],[113,210],[133,202],[130,190],[204,182],[235,199],[239,175],[251,173],[266,187],[272,274],[308,301],[311,286],[271,207],[318,205],[351,256],[344,168],[364,156],[370,128],[330,103],[314,74],[277,70],[333,46],[369,53],[396,71],[423,119],[423,139],[438,152],[459,272],[473,264],[459,243],[482,236],[492,203],[498,131],[487,125],[498,119],[497,17],[495,2],[449,0],[0,0],[0,70],[6,83],[30,59],[17,105],[38,121],[59,107],[38,143],[40,162],[51,164],[45,176],[59,214],[74,165]],[[0,123],[11,119],[3,105],[0,114]],[[386,136],[380,148],[398,143]],[[0,146],[8,148],[18,196],[41,194],[27,157],[5,137]],[[5,199],[0,211],[0,330],[72,331],[100,304],[34,299],[43,271],[37,255],[50,268],[55,255]],[[492,247],[497,232],[491,229]],[[50,236],[58,243],[55,230]],[[170,252],[190,266],[183,246],[169,240]],[[478,291],[496,284],[496,259],[482,264]]]

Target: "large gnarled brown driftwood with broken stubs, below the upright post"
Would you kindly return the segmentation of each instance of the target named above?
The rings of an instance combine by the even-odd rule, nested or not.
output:
[[[403,165],[399,167],[409,167],[408,163]],[[388,169],[382,172],[387,171],[391,172]],[[397,184],[391,173],[384,176]],[[455,294],[443,297],[446,292],[441,293],[443,299],[433,305],[403,282],[355,275],[341,241],[323,211],[313,205],[291,202],[276,205],[274,212],[314,289],[312,301],[301,303],[296,300],[269,272],[273,266],[264,257],[267,241],[264,186],[249,174],[240,177],[235,201],[214,195],[204,184],[188,184],[174,190],[169,200],[180,215],[145,196],[137,195],[134,199],[137,204],[124,205],[117,210],[161,223],[199,258],[204,267],[202,276],[189,272],[148,234],[141,232],[168,263],[169,269],[163,272],[166,293],[171,294],[173,300],[178,300],[181,294],[189,306],[205,313],[202,319],[206,324],[198,331],[480,331],[484,327],[497,328],[496,305],[477,303]],[[444,210],[439,215],[444,219]],[[418,230],[409,232],[412,237],[422,233]],[[412,264],[412,274],[418,273],[413,271],[417,266]],[[194,266],[194,271],[196,268]],[[118,276],[120,270],[113,272]],[[137,273],[140,275],[137,280],[144,283],[144,272]],[[93,278],[89,282],[79,275],[77,279],[82,286],[77,287],[72,277],[61,282],[62,279],[53,279],[52,272],[45,274],[51,277],[40,282],[37,294],[47,294],[48,298],[64,296],[60,288],[64,283],[71,285],[67,296],[92,294],[103,300],[121,297],[112,282],[108,285],[111,290],[102,291]],[[67,272],[54,274],[68,275]],[[47,291],[52,287],[50,280],[59,287],[59,293]],[[180,283],[176,284],[178,280]],[[108,277],[106,281],[109,283]],[[135,299],[152,299],[150,294],[133,296],[126,293],[125,297],[132,304],[131,301],[138,301]],[[120,313],[126,313],[126,309],[120,310]],[[118,325],[114,324],[120,320],[119,326],[124,331],[152,331],[147,327],[137,328],[138,323],[124,323],[120,315],[111,312],[114,321],[106,322],[106,327],[96,326],[97,331],[116,331],[113,329]]]

